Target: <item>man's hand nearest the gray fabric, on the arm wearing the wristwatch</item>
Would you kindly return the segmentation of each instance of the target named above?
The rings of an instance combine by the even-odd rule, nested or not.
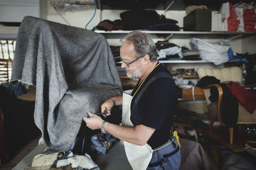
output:
[[[101,124],[103,122],[102,118],[98,117],[95,114],[92,114],[91,112],[88,113],[90,117],[84,117],[83,120],[86,123],[86,126],[89,127],[92,130],[100,129]]]

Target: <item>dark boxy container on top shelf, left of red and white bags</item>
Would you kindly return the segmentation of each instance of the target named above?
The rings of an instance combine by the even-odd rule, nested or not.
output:
[[[211,31],[211,10],[196,9],[183,18],[184,31]]]

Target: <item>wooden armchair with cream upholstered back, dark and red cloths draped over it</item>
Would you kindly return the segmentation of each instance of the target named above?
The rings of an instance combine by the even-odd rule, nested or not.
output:
[[[199,78],[203,78],[204,76],[214,76],[217,79],[219,79],[221,82],[223,81],[237,81],[240,82],[242,81],[242,71],[239,67],[224,67],[221,69],[210,69],[210,68],[205,68],[205,67],[198,67],[197,70]],[[210,94],[210,87],[217,87],[219,97],[218,97],[218,103],[217,106],[211,103],[209,100]],[[210,132],[212,131],[212,126],[214,124],[214,121],[218,120],[218,122],[222,122],[221,118],[221,101],[222,101],[222,96],[223,96],[223,89],[219,84],[214,84],[214,85],[209,85],[204,89],[204,94],[205,94],[205,100],[208,105],[208,109],[210,112],[210,115],[214,115],[211,119],[211,124],[210,124]],[[256,124],[256,110],[253,112],[253,114],[249,113],[246,108],[244,108],[241,103],[238,103],[238,118],[237,118],[237,124]],[[234,127],[228,128],[229,130],[229,140],[230,140],[230,145],[233,145],[233,139],[234,139]]]

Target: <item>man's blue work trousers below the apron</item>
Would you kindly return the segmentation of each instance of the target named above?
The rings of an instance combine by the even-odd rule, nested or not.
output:
[[[171,140],[169,139],[169,141],[164,145],[170,143],[170,141]],[[159,146],[157,148],[161,148],[162,146]],[[149,162],[147,170],[160,170],[160,169],[179,170],[180,162],[181,162],[181,159],[180,159],[179,145],[177,144],[176,138],[173,137],[172,143],[165,146],[164,148],[161,148],[153,152],[152,159]]]

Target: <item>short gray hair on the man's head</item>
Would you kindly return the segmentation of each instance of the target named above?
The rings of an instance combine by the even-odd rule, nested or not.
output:
[[[132,31],[127,34],[127,36],[120,39],[120,41],[122,44],[129,42],[133,44],[136,58],[149,55],[151,61],[157,60],[158,54],[156,45],[149,34],[140,31]]]

